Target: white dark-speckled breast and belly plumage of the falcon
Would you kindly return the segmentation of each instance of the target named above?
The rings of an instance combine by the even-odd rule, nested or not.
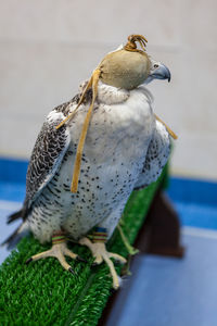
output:
[[[75,106],[72,103],[69,110]],[[133,188],[155,180],[168,158],[169,137],[165,127],[155,122],[150,92],[144,87],[127,91],[100,83],[78,192],[72,193],[76,146],[88,106],[89,103],[82,104],[67,123],[63,160],[51,170],[52,178],[47,177],[40,186],[26,218],[41,242],[50,241],[60,229],[78,240],[93,226],[105,227],[110,237]],[[53,110],[48,115],[50,127],[58,125],[60,114]],[[155,139],[156,155],[161,153],[163,158],[157,166],[156,158],[152,158]]]

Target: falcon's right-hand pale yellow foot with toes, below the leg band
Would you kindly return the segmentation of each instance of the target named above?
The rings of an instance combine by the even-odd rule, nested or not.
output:
[[[82,246],[87,246],[90,249],[92,255],[94,256],[94,263],[101,264],[104,261],[107,264],[113,278],[113,288],[118,289],[118,276],[115,271],[114,264],[111,261],[111,258],[114,258],[116,261],[123,264],[127,262],[126,259],[117,253],[108,252],[105,248],[104,242],[91,242],[88,238],[82,238],[79,240],[79,243]]]

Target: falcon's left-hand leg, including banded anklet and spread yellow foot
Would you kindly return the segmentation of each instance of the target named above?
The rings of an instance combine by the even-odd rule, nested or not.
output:
[[[58,233],[54,234],[52,237],[52,248],[50,250],[40,252],[38,254],[33,255],[26,261],[26,264],[33,262],[33,261],[38,261],[40,259],[46,259],[48,256],[53,256],[59,260],[61,265],[63,266],[64,269],[71,272],[72,274],[75,274],[71,265],[66,262],[65,255],[77,260],[77,261],[84,261],[80,256],[78,256],[76,253],[72,252],[71,250],[67,249],[66,247],[66,238],[63,233]]]

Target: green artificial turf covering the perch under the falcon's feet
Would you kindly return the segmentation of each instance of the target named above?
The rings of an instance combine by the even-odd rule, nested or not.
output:
[[[132,192],[122,225],[130,243],[133,243],[163,178],[164,175],[146,189]],[[73,246],[74,252],[88,263],[68,259],[76,276],[63,271],[53,258],[25,265],[28,258],[48,248],[50,246],[41,246],[33,237],[24,238],[0,266],[0,325],[97,325],[111,294],[108,267],[104,263],[91,267],[90,251],[77,244]],[[108,249],[128,255],[117,230]],[[120,266],[116,267],[120,273]]]

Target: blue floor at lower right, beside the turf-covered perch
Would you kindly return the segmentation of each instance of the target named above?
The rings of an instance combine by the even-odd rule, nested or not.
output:
[[[216,326],[217,238],[184,236],[184,259],[139,255],[106,326]]]

